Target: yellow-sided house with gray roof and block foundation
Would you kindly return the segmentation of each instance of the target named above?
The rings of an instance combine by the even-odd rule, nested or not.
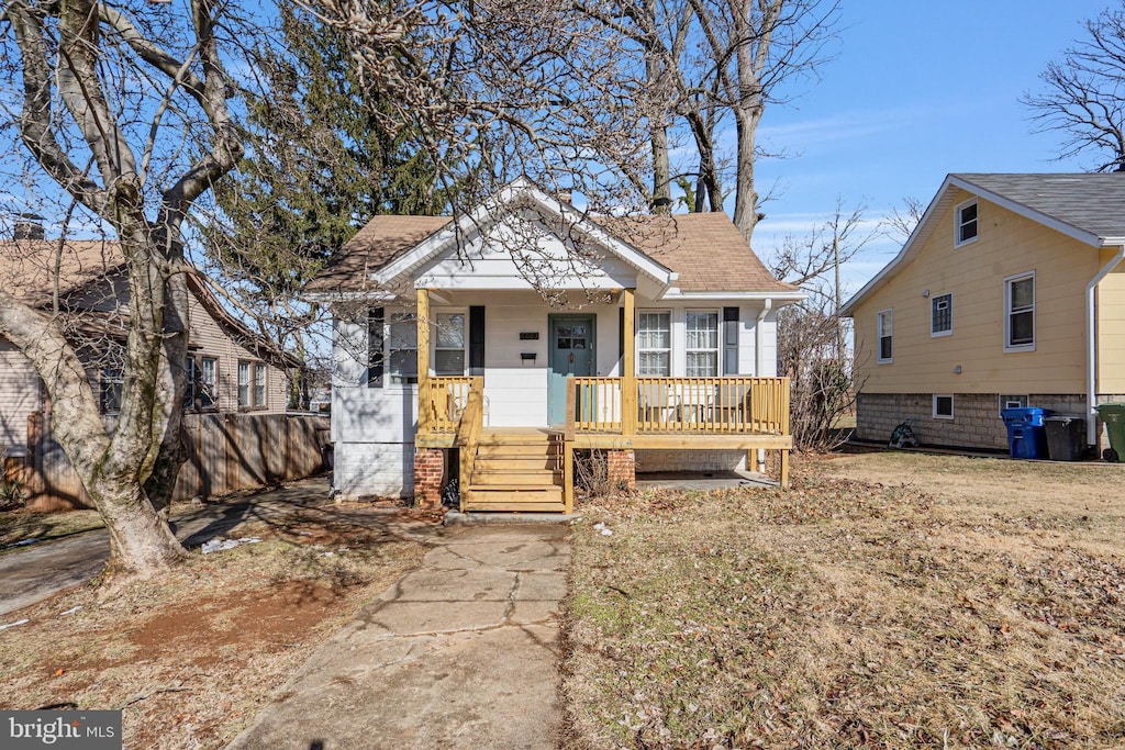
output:
[[[1125,401],[1125,174],[950,174],[902,251],[844,306],[856,436],[1004,449],[1000,410]]]

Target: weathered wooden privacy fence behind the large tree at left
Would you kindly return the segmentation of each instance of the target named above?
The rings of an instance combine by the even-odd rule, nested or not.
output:
[[[328,419],[299,414],[186,414],[180,467],[172,498],[223,495],[236,489],[304,479],[326,469]],[[28,418],[27,507],[92,507],[82,482],[42,414]]]

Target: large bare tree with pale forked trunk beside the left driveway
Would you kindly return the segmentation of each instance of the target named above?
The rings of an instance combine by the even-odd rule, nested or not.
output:
[[[141,3],[136,12],[152,8]],[[25,146],[61,192],[114,228],[124,260],[128,335],[111,434],[60,318],[0,290],[0,336],[43,379],[55,437],[109,528],[110,571],[119,575],[154,576],[184,554],[160,513],[179,467],[184,389],[180,226],[242,154],[214,35],[220,12],[212,0],[189,0],[183,17],[136,22],[123,7],[93,0],[14,0],[0,17],[11,27],[0,40],[12,61],[8,81],[20,82],[11,89],[22,94],[16,125]],[[154,28],[176,30],[156,38]],[[174,45],[182,60],[169,52]],[[163,89],[153,84],[161,76]]]

